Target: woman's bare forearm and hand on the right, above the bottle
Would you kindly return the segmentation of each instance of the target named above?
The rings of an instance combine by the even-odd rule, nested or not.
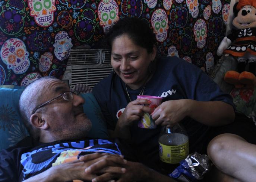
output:
[[[235,118],[233,106],[222,101],[180,99],[165,101],[152,113],[156,124],[172,127],[189,116],[208,126],[221,126]]]

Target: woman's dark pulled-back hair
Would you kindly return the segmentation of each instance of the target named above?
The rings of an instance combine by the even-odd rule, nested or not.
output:
[[[146,20],[135,17],[120,19],[110,29],[106,35],[106,42],[110,49],[112,48],[113,41],[121,35],[129,36],[133,43],[145,48],[148,53],[152,52],[153,46],[157,41]]]

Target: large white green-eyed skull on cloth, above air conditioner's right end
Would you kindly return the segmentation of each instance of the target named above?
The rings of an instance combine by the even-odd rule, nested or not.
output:
[[[115,0],[101,0],[98,6],[99,25],[107,33],[111,27],[119,20],[118,5]]]

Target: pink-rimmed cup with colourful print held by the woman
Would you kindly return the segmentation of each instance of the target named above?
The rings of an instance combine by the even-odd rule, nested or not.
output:
[[[137,98],[143,98],[151,101],[151,104],[147,105],[147,107],[152,108],[153,110],[158,107],[162,103],[161,97],[151,96],[151,95],[137,95]],[[143,117],[138,122],[138,127],[146,128],[146,129],[155,129],[157,125],[155,121],[150,116],[151,113],[144,113]]]

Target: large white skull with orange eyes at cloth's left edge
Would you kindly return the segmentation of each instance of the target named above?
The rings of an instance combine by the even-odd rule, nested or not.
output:
[[[12,69],[15,74],[23,74],[29,68],[29,52],[26,51],[26,45],[20,39],[6,40],[1,47],[0,55],[7,69]]]

